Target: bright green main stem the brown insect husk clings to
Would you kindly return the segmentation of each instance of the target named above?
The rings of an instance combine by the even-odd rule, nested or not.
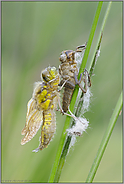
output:
[[[103,4],[103,2],[98,3],[96,15],[95,15],[95,18],[94,18],[94,21],[93,21],[93,24],[92,24],[89,40],[88,40],[88,43],[87,43],[86,51],[85,51],[85,54],[84,54],[84,57],[83,57],[83,61],[82,61],[81,67],[80,67],[78,77],[83,72],[83,70],[86,66],[86,62],[87,62],[87,59],[88,59],[90,47],[91,47],[91,44],[92,44],[92,41],[93,41],[93,37],[94,37],[95,30],[96,30],[96,27],[97,27],[98,19],[99,19],[99,16],[100,16],[102,4]],[[71,103],[70,103],[70,110],[72,112],[73,112],[74,105],[75,105],[75,102],[76,102],[78,89],[79,89],[78,86],[76,86],[76,88],[74,90],[74,93],[73,93]],[[62,136],[61,136],[61,139],[60,139],[58,151],[57,151],[57,154],[56,154],[56,158],[55,158],[55,162],[54,162],[54,165],[53,165],[53,168],[52,168],[52,172],[51,172],[51,175],[50,175],[49,182],[58,182],[59,181],[59,178],[60,178],[60,175],[61,175],[61,172],[62,172],[62,168],[63,168],[64,163],[65,163],[65,158],[66,158],[66,155],[67,155],[67,151],[68,151],[68,146],[65,146],[64,149],[63,149],[63,145],[65,143],[66,135],[67,135],[67,133],[65,133],[65,132],[66,132],[66,129],[69,128],[70,121],[71,121],[71,118],[69,116],[67,116],[66,120],[65,120],[63,131],[62,131]],[[63,153],[62,153],[62,150],[63,150]]]

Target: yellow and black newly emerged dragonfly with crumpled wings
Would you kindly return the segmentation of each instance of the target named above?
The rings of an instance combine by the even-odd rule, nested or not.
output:
[[[41,127],[40,144],[34,152],[46,148],[56,130],[56,116],[60,82],[59,73],[55,67],[47,67],[41,73],[43,81],[36,82],[32,98],[27,105],[26,124],[21,134],[24,135],[21,144],[30,141]]]

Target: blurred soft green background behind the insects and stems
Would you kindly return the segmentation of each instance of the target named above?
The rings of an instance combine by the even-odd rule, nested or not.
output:
[[[27,102],[33,83],[47,66],[59,65],[62,50],[88,40],[98,2],[1,2],[2,9],[2,181],[47,182],[65,116],[57,112],[57,130],[38,153],[40,131],[21,146]],[[88,61],[99,35],[102,12]],[[77,138],[60,182],[85,182],[122,90],[122,2],[113,2],[105,25],[100,57],[92,77],[90,128]],[[94,182],[122,182],[122,115],[119,116]]]

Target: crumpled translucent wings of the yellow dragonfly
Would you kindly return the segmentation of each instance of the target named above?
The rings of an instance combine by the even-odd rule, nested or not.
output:
[[[21,145],[30,141],[37,133],[43,123],[43,112],[36,109],[36,101],[31,98],[27,105],[26,124],[21,134],[24,138]]]

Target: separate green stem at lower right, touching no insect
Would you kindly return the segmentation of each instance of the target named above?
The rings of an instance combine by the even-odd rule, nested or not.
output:
[[[100,147],[98,149],[96,157],[95,157],[94,162],[92,164],[91,170],[90,170],[89,175],[88,175],[87,180],[86,180],[87,183],[91,183],[93,181],[94,177],[95,177],[96,171],[98,169],[98,166],[100,164],[102,156],[103,156],[103,154],[105,152],[107,143],[108,143],[108,141],[110,139],[110,136],[112,134],[113,128],[115,126],[115,123],[117,121],[119,113],[120,113],[120,111],[122,109],[122,105],[123,105],[123,95],[122,94],[123,93],[121,92],[120,97],[118,99],[118,102],[116,104],[116,107],[114,109],[114,112],[113,112],[113,114],[111,116],[108,128],[107,128],[107,130],[106,130],[106,132],[104,134],[104,137],[102,139],[102,142],[100,144]]]

